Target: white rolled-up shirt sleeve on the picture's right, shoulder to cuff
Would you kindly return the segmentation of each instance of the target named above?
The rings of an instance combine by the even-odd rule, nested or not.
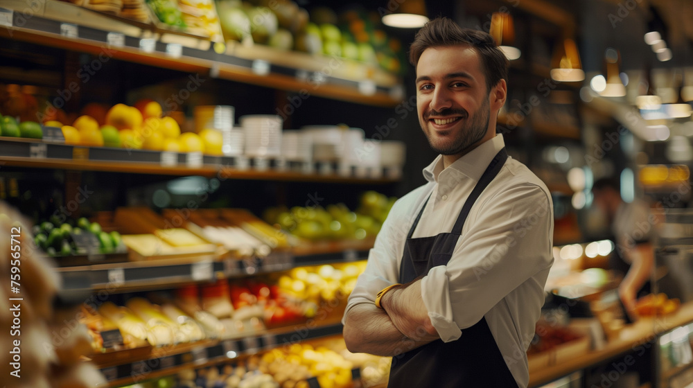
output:
[[[543,188],[519,184],[479,205],[448,264],[433,267],[421,281],[428,316],[444,342],[457,340],[553,262],[553,209]]]

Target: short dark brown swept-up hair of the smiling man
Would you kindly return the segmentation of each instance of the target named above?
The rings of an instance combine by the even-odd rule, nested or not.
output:
[[[480,30],[462,28],[447,17],[438,17],[426,23],[414,37],[409,51],[409,60],[416,68],[426,48],[468,44],[475,48],[482,60],[482,71],[486,76],[486,90],[491,90],[498,81],[508,78],[508,59],[496,46],[491,35]]]

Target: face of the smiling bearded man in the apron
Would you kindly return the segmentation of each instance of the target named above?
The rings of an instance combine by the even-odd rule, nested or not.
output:
[[[416,65],[416,109],[435,152],[464,155],[480,143],[489,133],[491,107],[477,51],[467,45],[423,51]]]

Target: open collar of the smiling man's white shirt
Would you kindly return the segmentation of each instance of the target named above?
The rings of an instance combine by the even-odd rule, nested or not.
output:
[[[493,139],[484,141],[468,154],[457,159],[448,168],[458,171],[474,180],[479,180],[496,154],[505,147],[502,134],[496,134]],[[428,182],[437,182],[439,174],[443,171],[443,155],[438,155],[431,164],[423,169],[423,177]]]

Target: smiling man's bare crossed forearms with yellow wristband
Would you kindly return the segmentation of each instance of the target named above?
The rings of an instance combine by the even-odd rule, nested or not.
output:
[[[393,356],[439,338],[421,297],[421,280],[389,290],[380,300],[353,306],[344,324],[344,341],[354,353]]]

